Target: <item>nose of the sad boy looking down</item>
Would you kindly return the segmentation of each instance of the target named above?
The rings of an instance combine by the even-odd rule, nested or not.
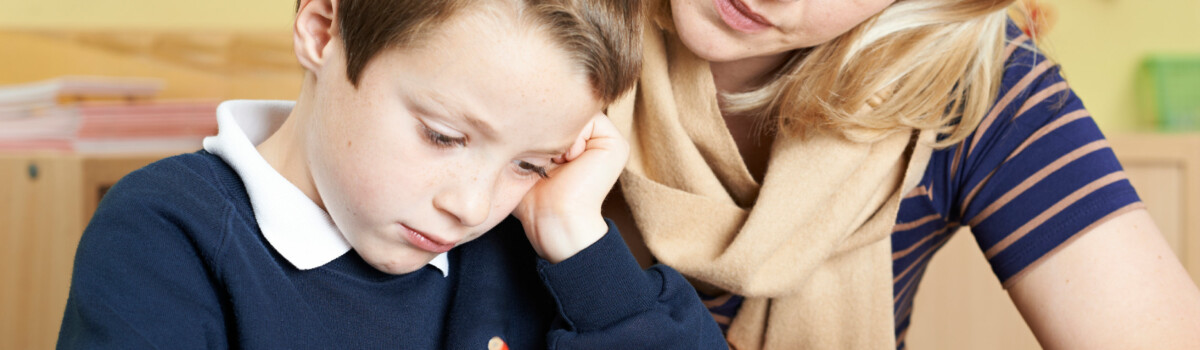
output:
[[[449,213],[464,227],[478,227],[491,213],[492,181],[484,176],[463,176],[433,198],[433,206]]]

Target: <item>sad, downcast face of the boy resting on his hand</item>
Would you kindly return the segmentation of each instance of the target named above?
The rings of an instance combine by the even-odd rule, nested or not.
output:
[[[415,271],[493,228],[600,113],[582,71],[526,26],[458,14],[418,48],[380,52],[358,89],[340,38],[325,47],[308,167],[376,268]]]

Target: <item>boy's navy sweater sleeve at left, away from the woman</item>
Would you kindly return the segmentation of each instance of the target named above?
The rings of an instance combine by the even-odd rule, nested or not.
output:
[[[228,207],[180,207],[199,199],[179,188],[197,185],[154,177],[142,170],[114,186],[84,230],[59,349],[227,348],[204,241],[190,233],[221,233],[220,224],[202,225],[217,219],[196,217],[218,218]]]

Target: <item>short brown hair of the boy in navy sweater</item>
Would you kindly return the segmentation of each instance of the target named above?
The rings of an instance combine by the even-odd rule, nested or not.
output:
[[[605,104],[636,82],[642,65],[640,0],[508,1],[583,68]],[[461,10],[486,2],[491,1],[341,0],[336,11],[350,84],[358,86],[367,62],[380,50],[412,47]]]

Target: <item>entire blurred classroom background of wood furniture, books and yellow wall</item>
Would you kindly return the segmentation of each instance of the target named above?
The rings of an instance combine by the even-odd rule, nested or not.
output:
[[[650,0],[654,1],[654,0]],[[1022,0],[1181,260],[1200,271],[1200,0]],[[118,179],[199,149],[230,98],[293,99],[293,0],[0,0],[0,349],[48,349]],[[1036,349],[973,239],[937,255],[911,349]]]

